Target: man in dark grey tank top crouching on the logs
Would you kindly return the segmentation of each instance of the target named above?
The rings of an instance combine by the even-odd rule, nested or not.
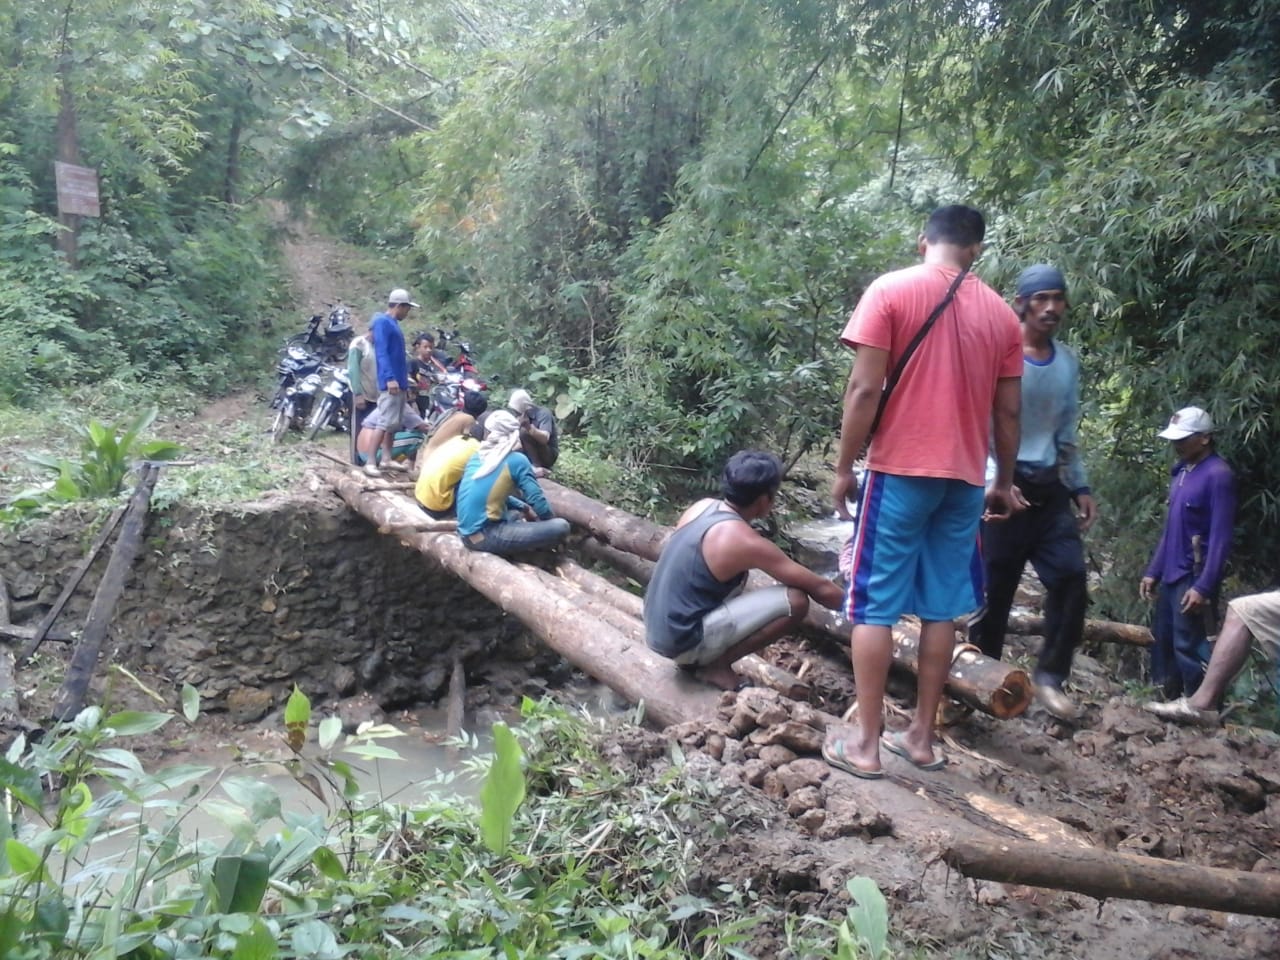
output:
[[[723,690],[739,687],[735,660],[794,630],[809,599],[837,609],[844,591],[760,536],[750,521],[767,517],[782,484],[772,453],[740,451],[721,475],[722,499],[686,509],[667,540],[644,595],[649,648]],[[742,593],[760,570],[781,586]]]

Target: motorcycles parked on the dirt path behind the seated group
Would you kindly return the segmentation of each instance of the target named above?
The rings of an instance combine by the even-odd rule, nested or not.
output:
[[[348,307],[342,303],[328,306],[328,316],[314,315],[303,332],[289,337],[280,348],[270,404],[275,411],[270,429],[275,443],[291,430],[305,433],[308,440],[326,428],[351,431],[353,406],[347,351],[355,330]],[[447,370],[420,372],[416,383],[410,384],[417,394],[419,411],[429,425],[461,407],[468,390],[489,389],[488,381],[476,370],[471,344],[458,339],[457,332],[438,330],[435,346],[445,357],[452,352],[451,347],[457,355],[442,361]]]

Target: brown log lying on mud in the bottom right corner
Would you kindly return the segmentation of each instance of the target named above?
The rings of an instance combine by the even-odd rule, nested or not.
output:
[[[1071,890],[1098,900],[1147,900],[1280,918],[1280,873],[1247,873],[1110,850],[965,837],[942,859],[966,877]]]

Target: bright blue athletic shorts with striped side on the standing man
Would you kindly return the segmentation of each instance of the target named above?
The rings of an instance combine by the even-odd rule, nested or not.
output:
[[[905,613],[943,621],[980,607],[982,506],[983,489],[963,480],[868,471],[846,620],[888,627]]]

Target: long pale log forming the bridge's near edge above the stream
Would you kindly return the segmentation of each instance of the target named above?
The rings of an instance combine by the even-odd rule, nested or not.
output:
[[[394,526],[412,518],[408,511],[413,507],[397,494],[370,494],[358,480],[337,472],[326,479],[352,509],[375,526]],[[466,549],[456,534],[410,534],[404,541],[517,617],[575,667],[631,703],[643,701],[645,714],[659,726],[716,712],[721,691],[684,677],[644,643],[623,636],[593,616],[590,604],[600,600],[548,590],[541,579],[502,557]]]

